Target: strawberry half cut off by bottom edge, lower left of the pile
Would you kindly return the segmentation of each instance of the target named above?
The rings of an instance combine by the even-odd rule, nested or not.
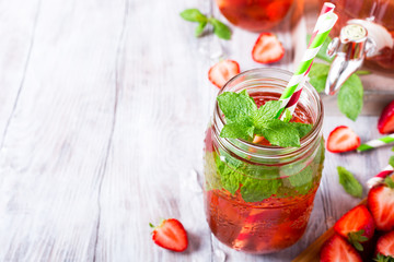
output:
[[[321,262],[362,262],[360,254],[339,235],[331,237],[321,250]]]

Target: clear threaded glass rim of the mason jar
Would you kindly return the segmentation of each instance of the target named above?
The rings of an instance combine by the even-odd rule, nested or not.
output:
[[[224,86],[220,90],[220,92],[218,93],[218,96],[220,94],[222,94],[223,92],[227,92],[229,85],[232,84],[234,81],[239,80],[242,76],[245,76],[248,74],[254,74],[254,73],[264,73],[264,76],[262,76],[262,78],[271,79],[274,81],[275,80],[289,81],[290,78],[293,75],[290,71],[278,69],[278,68],[251,69],[251,70],[244,71],[244,72],[235,75],[231,80],[229,80],[224,84]],[[281,74],[282,78],[289,78],[289,79],[287,80],[287,79],[280,79],[278,76],[269,76],[270,74],[278,74],[278,73]],[[246,87],[240,88],[240,91],[242,91],[244,88],[246,88]],[[316,112],[316,119],[313,123],[312,130],[300,140],[300,147],[280,147],[280,146],[273,146],[273,145],[269,145],[269,146],[260,145],[260,144],[254,144],[252,142],[241,140],[241,139],[234,140],[236,142],[236,144],[243,145],[243,146],[245,146],[245,148],[246,147],[252,148],[252,153],[251,153],[251,151],[248,151],[248,152],[245,152],[246,154],[253,155],[255,157],[262,157],[262,155],[264,155],[265,158],[267,158],[267,157],[268,158],[277,158],[278,156],[291,157],[294,155],[299,155],[302,151],[305,150],[305,147],[309,147],[309,145],[313,144],[313,142],[320,136],[318,134],[321,133],[321,130],[322,130],[324,108],[323,108],[323,103],[322,103],[320,95],[317,94],[316,90],[308,81],[305,81],[305,83],[304,83],[303,93],[305,93],[305,91],[308,93],[310,93],[310,95],[312,95],[312,98],[313,98],[314,103],[316,104],[317,112]],[[215,115],[219,118],[221,124],[224,126],[225,120],[223,118],[223,114],[221,114],[221,110],[219,108],[217,100],[216,100],[216,106],[215,106]],[[220,139],[222,139],[225,142],[225,144],[228,144],[228,145],[232,145],[233,147],[239,147],[235,145],[235,143],[232,143],[230,139],[223,139],[223,138],[220,138]],[[237,150],[240,150],[240,148],[237,148]],[[259,152],[259,154],[256,154],[253,152],[257,152],[257,153]]]

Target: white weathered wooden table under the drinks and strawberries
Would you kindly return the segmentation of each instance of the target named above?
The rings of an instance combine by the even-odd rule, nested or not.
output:
[[[202,0],[0,1],[0,261],[290,261],[358,203],[336,166],[364,183],[389,147],[327,153],[293,247],[250,255],[211,236],[199,184],[217,41],[196,39],[179,19],[192,7],[218,12]],[[260,67],[250,55],[256,37],[234,28],[222,43],[242,70]],[[291,61],[290,50],[276,66]],[[366,141],[375,123],[327,116],[324,133],[348,124]],[[186,252],[153,245],[148,224],[161,217],[183,222]]]

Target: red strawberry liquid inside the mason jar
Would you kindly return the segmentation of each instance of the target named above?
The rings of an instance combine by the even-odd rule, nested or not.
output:
[[[258,107],[268,100],[278,99],[275,93],[254,93],[251,96]],[[291,121],[312,123],[312,117],[305,108],[299,106]],[[208,129],[206,152],[215,154],[216,146],[210,135]],[[263,144],[269,143],[265,141]],[[213,235],[224,245],[251,253],[275,252],[297,242],[306,228],[313,209],[323,168],[324,157],[321,156],[310,164],[315,170],[315,179],[303,194],[289,190],[285,195],[271,195],[260,202],[245,202],[240,189],[235,194],[225,189],[205,190],[206,215]],[[206,160],[206,168],[215,168],[209,163],[212,164]],[[277,179],[283,181],[280,177]]]

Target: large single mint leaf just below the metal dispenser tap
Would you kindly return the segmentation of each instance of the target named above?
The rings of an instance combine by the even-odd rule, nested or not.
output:
[[[356,74],[344,83],[338,94],[339,110],[351,120],[356,121],[362,109],[363,88],[359,76]]]

